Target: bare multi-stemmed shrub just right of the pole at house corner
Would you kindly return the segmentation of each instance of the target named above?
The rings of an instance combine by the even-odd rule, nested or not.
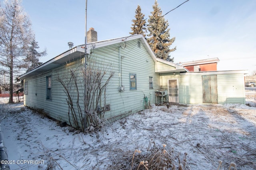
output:
[[[110,79],[114,76],[114,71],[110,68],[102,67],[102,64],[91,63],[86,71],[82,70],[84,80],[86,80],[86,100],[84,108],[86,113],[87,131],[101,129],[106,123],[104,113],[106,111],[106,90]],[[103,107],[100,103],[103,101]]]

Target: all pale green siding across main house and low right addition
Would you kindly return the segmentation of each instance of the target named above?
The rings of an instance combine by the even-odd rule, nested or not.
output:
[[[159,61],[155,62],[142,45],[143,43],[138,47],[137,42],[138,39],[134,39],[91,49],[92,53],[88,55],[88,66],[96,64],[98,69],[108,68],[107,72],[115,72],[106,90],[106,104],[110,104],[110,111],[105,112],[106,118],[118,119],[143,110],[145,96],[148,97],[150,104],[154,104],[155,89],[167,88],[168,79],[178,79],[179,103],[202,104],[202,75],[204,75],[204,72],[196,74],[191,72],[179,74],[176,72],[176,75],[173,75],[171,71],[175,70],[175,67]],[[82,57],[83,54],[81,53]],[[69,124],[67,96],[62,85],[58,82],[58,77],[65,78],[70,74],[70,68],[76,70],[79,82],[80,106],[83,106],[84,83],[82,76],[80,76],[80,70],[83,69],[81,59],[72,62],[66,61],[66,64],[58,68],[26,78],[24,82],[28,82],[28,95],[24,96],[24,105],[44,109],[54,119],[66,121]],[[169,73],[158,73],[168,71]],[[130,90],[130,73],[136,74],[136,90]],[[215,72],[214,74],[217,74],[218,103],[245,104],[242,73],[219,74]],[[46,100],[46,76],[50,75],[52,76],[52,100]],[[209,72],[207,75],[209,75]],[[153,89],[149,87],[149,77],[153,77]],[[118,91],[118,87],[121,85],[125,87],[124,92]],[[74,102],[76,101],[74,100]],[[103,99],[101,99],[100,105],[103,107]]]

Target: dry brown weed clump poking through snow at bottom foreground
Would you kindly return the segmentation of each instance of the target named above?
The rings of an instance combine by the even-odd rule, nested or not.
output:
[[[167,149],[165,144],[157,145],[150,141],[146,150],[136,149],[132,151],[120,152],[115,155],[112,165],[108,166],[109,170],[188,170],[184,153],[181,159],[180,153],[175,153],[173,149]]]

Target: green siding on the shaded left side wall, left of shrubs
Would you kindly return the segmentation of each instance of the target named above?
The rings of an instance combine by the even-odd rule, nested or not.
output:
[[[74,62],[73,64],[76,67],[81,65],[81,63],[78,62]],[[58,76],[67,76],[68,70],[68,66],[60,66],[44,74],[26,79],[25,82],[28,82],[28,95],[25,95],[24,105],[35,109],[44,109],[50,117],[68,123],[67,97],[62,90],[62,85],[57,81]],[[52,100],[47,100],[46,76],[50,75],[52,76]]]

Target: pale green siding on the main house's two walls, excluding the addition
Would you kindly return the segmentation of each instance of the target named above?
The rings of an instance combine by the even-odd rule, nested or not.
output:
[[[110,111],[105,112],[106,118],[117,119],[143,110],[144,96],[148,97],[151,104],[155,103],[154,89],[160,88],[160,77],[158,73],[154,72],[153,59],[143,45],[140,48],[137,47],[137,42],[138,39],[127,41],[126,47],[121,48],[121,78],[119,78],[119,46],[124,47],[124,43],[93,49],[92,54],[88,55],[88,66],[97,63],[100,67],[108,67],[109,70],[115,72],[107,86],[106,104],[110,104]],[[78,60],[24,80],[24,82],[28,82],[28,95],[25,95],[24,105],[42,108],[50,117],[66,121],[69,124],[67,97],[57,78],[69,74],[70,67],[77,70],[79,77],[79,70],[83,68],[83,64]],[[129,88],[129,73],[137,75],[136,90]],[[46,100],[46,76],[49,75],[52,76],[52,100]],[[154,89],[149,88],[149,76],[153,77]],[[82,102],[84,90],[82,80],[80,82],[80,102]],[[118,91],[120,84],[125,87],[124,92]],[[103,105],[102,101],[101,107]]]

